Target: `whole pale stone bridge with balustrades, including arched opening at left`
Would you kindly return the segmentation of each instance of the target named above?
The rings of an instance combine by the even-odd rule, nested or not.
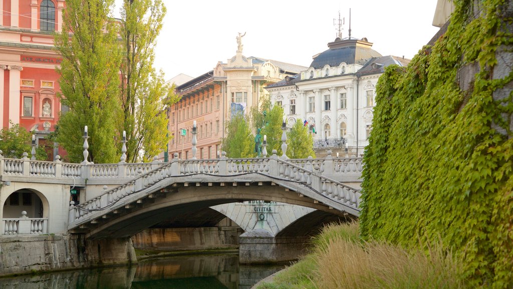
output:
[[[25,155],[22,159],[0,156],[0,168],[3,235],[69,230],[87,233],[90,238],[130,236],[165,218],[212,206],[247,230],[249,221],[234,215],[229,203],[251,200],[301,205],[339,215],[358,216],[360,210],[361,158],[222,156],[175,158],[166,164],[96,165],[66,164],[58,157],[53,162],[37,161]],[[69,205],[70,189],[80,192],[79,205]],[[301,215],[287,218],[288,222],[270,231],[277,233]]]

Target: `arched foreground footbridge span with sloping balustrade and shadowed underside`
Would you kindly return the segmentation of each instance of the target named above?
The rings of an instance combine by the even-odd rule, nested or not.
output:
[[[342,218],[358,216],[359,191],[276,161],[274,171],[222,176],[208,172],[187,174],[183,170],[180,175],[171,175],[163,166],[72,206],[68,229],[85,233],[89,239],[130,237],[161,221],[207,207],[259,200],[300,205]]]

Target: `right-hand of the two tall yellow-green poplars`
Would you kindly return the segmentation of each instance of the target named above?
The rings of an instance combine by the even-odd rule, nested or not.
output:
[[[156,73],[153,68],[154,46],[165,14],[161,0],[123,0],[120,127],[127,133],[129,162],[159,154],[169,141],[166,109],[178,98],[162,71]]]

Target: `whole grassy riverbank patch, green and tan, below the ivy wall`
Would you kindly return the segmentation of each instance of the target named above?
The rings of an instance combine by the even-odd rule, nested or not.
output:
[[[326,226],[312,243],[311,254],[257,289],[470,288],[462,260],[440,243],[420,250],[363,241],[356,222]]]

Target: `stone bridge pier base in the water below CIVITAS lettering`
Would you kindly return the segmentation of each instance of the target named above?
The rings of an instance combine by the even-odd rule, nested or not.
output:
[[[306,253],[310,237],[274,237],[256,229],[239,237],[239,263],[263,264],[297,260]]]

